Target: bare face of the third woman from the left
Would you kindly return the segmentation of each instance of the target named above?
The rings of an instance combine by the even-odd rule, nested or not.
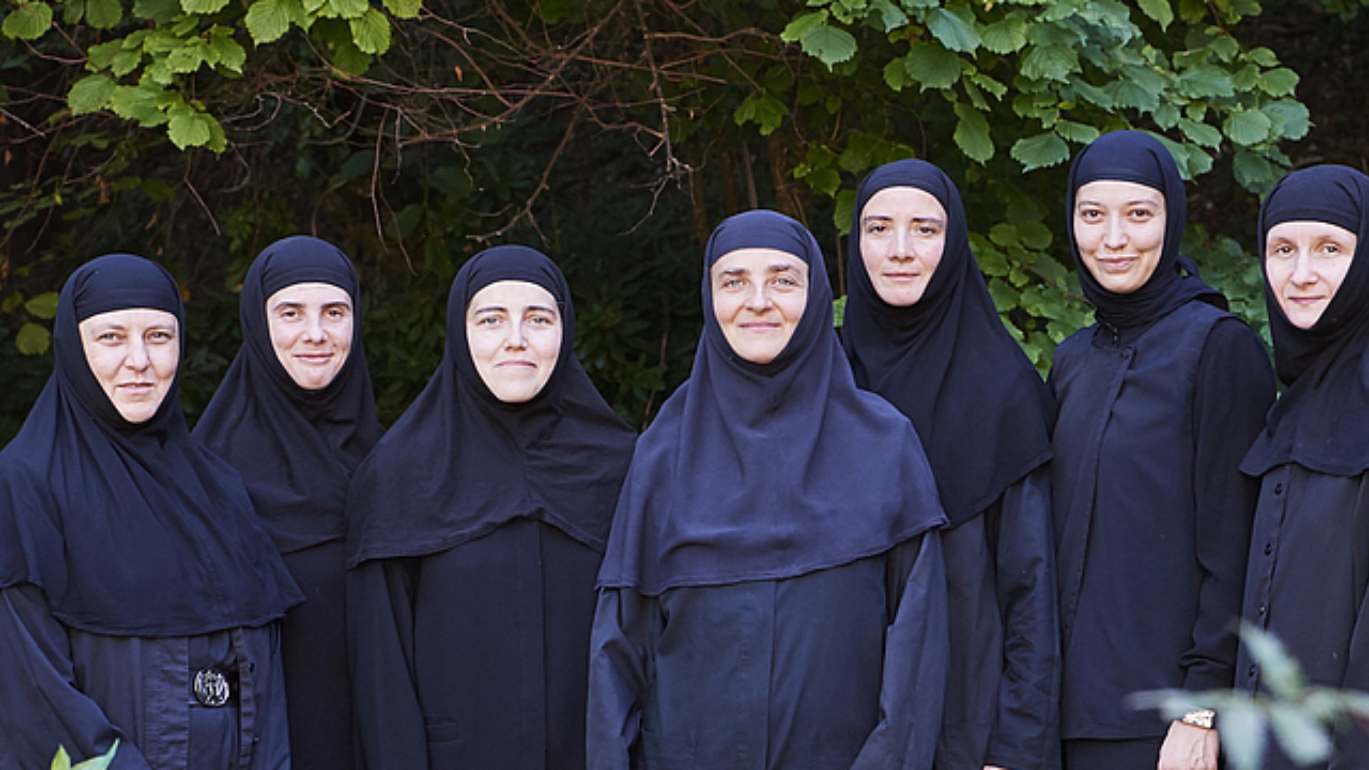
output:
[[[527,281],[496,281],[465,307],[465,343],[485,386],[507,404],[542,392],[561,355],[556,297]]]

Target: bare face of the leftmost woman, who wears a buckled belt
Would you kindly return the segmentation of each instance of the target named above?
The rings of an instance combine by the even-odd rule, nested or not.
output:
[[[86,364],[119,417],[134,425],[151,419],[181,362],[175,315],[141,307],[111,310],[77,329]]]

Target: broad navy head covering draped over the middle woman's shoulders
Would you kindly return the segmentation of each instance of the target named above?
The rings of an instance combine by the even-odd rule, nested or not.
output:
[[[809,266],[804,316],[765,364],[738,356],[713,315],[709,267],[741,248]],[[823,253],[802,225],[773,211],[719,225],[702,293],[694,369],[638,440],[601,586],[657,595],[795,577],[945,523],[912,423],[856,388],[832,329]]]

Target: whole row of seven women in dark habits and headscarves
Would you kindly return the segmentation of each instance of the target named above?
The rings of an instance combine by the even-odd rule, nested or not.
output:
[[[954,184],[901,160],[857,193],[841,338],[802,225],[713,232],[639,437],[530,248],[461,267],[387,432],[333,245],[252,263],[193,433],[177,282],[84,264],[0,452],[0,769],[1216,770],[1220,714],[1128,696],[1259,691],[1238,618],[1369,689],[1369,177],[1264,201],[1277,401],[1160,141],[1103,134],[1066,200],[1095,323],[1049,381]]]

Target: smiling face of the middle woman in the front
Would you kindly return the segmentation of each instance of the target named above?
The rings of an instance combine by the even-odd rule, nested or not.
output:
[[[808,263],[772,248],[727,252],[709,270],[713,316],[732,352],[769,363],[784,349],[808,306]]]

